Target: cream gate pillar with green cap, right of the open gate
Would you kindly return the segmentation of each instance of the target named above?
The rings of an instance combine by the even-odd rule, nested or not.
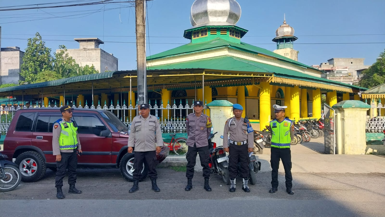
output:
[[[336,154],[365,154],[367,103],[346,100],[333,105],[336,113]]]

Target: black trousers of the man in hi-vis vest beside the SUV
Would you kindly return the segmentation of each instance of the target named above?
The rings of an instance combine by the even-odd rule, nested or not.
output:
[[[56,176],[55,176],[55,188],[63,186],[63,178],[65,176],[65,170],[68,169],[68,184],[76,183],[76,168],[77,168],[77,154],[76,149],[74,152],[64,153],[61,152],[62,160],[56,162]]]

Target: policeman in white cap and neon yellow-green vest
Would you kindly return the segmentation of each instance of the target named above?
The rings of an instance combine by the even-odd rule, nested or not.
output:
[[[294,123],[285,118],[285,108],[287,106],[273,105],[275,119],[270,121],[271,128],[271,189],[270,193],[278,190],[278,168],[280,159],[282,159],[283,168],[285,169],[286,192],[293,195],[291,190],[293,186],[293,177],[291,176],[291,151],[290,141],[295,136]]]

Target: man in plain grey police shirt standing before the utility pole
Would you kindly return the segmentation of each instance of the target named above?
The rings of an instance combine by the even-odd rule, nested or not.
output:
[[[156,137],[156,135],[158,135]],[[134,193],[139,189],[143,162],[148,166],[148,176],[151,179],[152,190],[160,192],[156,185],[156,154],[161,152],[163,146],[161,126],[154,115],[150,115],[150,105],[140,106],[140,115],[132,119],[130,137],[128,139],[128,153],[134,151],[134,185],[129,193]]]

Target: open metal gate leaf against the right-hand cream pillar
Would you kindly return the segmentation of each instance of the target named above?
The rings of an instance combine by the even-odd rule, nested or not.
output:
[[[325,153],[336,154],[335,112],[334,109],[326,103],[323,110],[325,113]]]

